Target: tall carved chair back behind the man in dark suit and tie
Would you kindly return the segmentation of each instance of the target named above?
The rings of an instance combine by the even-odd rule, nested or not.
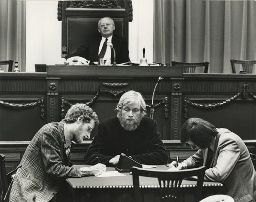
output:
[[[131,1],[59,1],[58,20],[62,21],[61,57],[72,54],[90,37],[99,35],[98,21],[105,16],[113,19],[114,34],[125,37],[128,42],[128,22],[132,21]]]

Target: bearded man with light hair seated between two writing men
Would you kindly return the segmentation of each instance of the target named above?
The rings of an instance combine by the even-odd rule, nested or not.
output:
[[[168,153],[158,132],[157,122],[146,117],[146,103],[141,93],[124,93],[116,106],[117,117],[98,125],[98,134],[85,155],[88,165],[117,165],[124,153],[141,164],[162,165]]]

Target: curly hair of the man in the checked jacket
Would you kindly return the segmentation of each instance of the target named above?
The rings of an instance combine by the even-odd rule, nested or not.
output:
[[[64,121],[65,123],[74,123],[80,116],[83,116],[83,121],[86,123],[89,123],[90,120],[93,119],[95,125],[98,124],[98,116],[96,112],[93,112],[89,106],[81,103],[76,103],[70,107]]]

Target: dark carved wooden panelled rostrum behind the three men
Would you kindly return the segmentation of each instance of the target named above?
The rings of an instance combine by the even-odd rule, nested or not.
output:
[[[86,103],[99,120],[116,115],[120,96],[128,90],[143,93],[170,157],[185,159],[195,151],[183,147],[179,130],[184,120],[200,117],[226,127],[256,153],[256,75],[183,74],[182,67],[48,66],[47,73],[0,73],[0,153],[7,170],[19,163],[33,135],[45,123],[60,121],[75,103]],[[91,138],[97,134],[97,128]],[[74,145],[72,160],[83,164],[90,145]]]

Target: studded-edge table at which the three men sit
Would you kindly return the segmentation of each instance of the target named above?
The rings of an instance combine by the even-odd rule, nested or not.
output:
[[[156,169],[166,170],[165,165],[158,165]],[[113,167],[107,167],[107,171],[113,171]],[[123,173],[118,177],[83,177],[68,178],[67,183],[73,202],[133,202],[132,175]],[[158,180],[154,178],[140,177],[143,186],[143,201],[159,201]],[[191,202],[194,199],[196,181],[182,181],[182,195],[177,202]],[[218,194],[222,187],[218,182],[203,183],[203,197]]]

